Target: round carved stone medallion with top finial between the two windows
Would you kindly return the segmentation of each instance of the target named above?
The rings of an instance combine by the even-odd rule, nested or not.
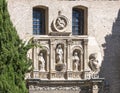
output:
[[[58,12],[58,17],[54,19],[53,26],[56,31],[64,32],[68,25],[67,17],[61,15],[61,11]]]

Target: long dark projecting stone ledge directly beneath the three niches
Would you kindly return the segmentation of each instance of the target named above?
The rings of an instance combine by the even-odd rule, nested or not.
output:
[[[40,80],[40,79],[27,79],[27,83],[40,84],[40,85],[90,85],[92,83],[102,83],[104,78],[89,79],[89,80]]]

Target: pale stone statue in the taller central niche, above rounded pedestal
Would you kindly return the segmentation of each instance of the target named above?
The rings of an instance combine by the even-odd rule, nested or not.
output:
[[[58,45],[56,49],[57,63],[63,63],[63,49],[61,45]]]

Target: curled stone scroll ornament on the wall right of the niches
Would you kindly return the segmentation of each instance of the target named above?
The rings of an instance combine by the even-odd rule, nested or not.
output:
[[[93,53],[89,56],[88,65],[93,72],[98,73],[100,71],[100,64],[99,61],[97,60],[97,53]]]

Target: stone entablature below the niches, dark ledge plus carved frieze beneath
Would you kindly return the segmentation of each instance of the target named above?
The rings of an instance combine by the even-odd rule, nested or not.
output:
[[[91,80],[28,79],[29,93],[103,93],[103,78]]]

